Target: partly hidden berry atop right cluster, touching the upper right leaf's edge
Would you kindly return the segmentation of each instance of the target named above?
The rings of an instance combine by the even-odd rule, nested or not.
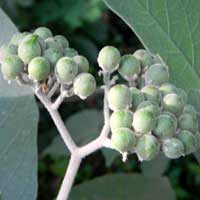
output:
[[[133,56],[141,62],[142,68],[151,66],[153,64],[152,56],[144,49],[138,49],[137,51],[135,51]]]

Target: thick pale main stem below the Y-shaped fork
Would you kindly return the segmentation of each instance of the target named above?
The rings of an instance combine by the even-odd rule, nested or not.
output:
[[[74,179],[76,177],[76,173],[79,169],[81,158],[77,156],[76,153],[71,155],[71,159],[63,179],[62,185],[60,187],[60,191],[57,196],[57,200],[67,200],[69,197],[70,190],[72,188]]]

